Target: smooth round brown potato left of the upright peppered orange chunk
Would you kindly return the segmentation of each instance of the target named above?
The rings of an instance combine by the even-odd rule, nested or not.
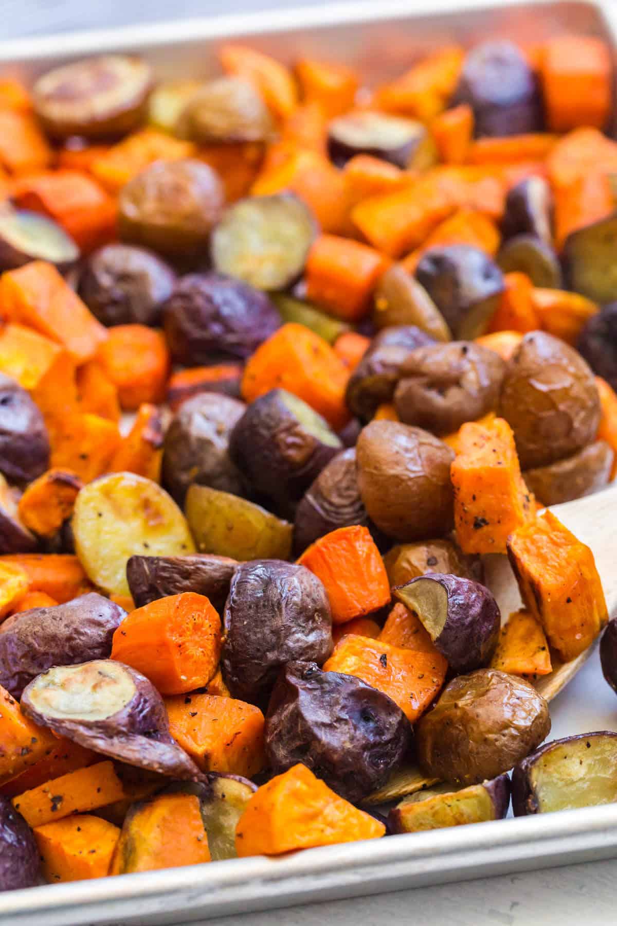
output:
[[[364,507],[389,537],[414,541],[452,530],[454,453],[434,434],[372,421],[358,438],[356,459]]]

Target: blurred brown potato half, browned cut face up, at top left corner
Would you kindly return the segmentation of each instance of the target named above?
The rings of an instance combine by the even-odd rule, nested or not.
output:
[[[105,138],[142,122],[152,70],[138,57],[102,55],[47,71],[34,84],[34,111],[55,138]]]

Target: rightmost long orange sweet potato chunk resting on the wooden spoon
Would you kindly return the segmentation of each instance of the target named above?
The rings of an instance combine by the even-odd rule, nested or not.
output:
[[[551,511],[512,533],[508,557],[524,606],[568,662],[593,643],[608,619],[594,555]]]

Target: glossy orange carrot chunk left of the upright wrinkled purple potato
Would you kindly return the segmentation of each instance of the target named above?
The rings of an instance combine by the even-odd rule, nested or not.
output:
[[[221,652],[221,621],[204,594],[184,592],[138,607],[114,633],[111,658],[143,672],[161,694],[210,681]]]

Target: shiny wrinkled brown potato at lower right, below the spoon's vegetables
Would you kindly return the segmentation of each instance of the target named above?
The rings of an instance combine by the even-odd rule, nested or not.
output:
[[[550,732],[549,705],[524,679],[477,669],[446,685],[415,727],[420,767],[448,782],[497,778]]]

